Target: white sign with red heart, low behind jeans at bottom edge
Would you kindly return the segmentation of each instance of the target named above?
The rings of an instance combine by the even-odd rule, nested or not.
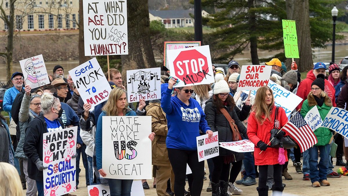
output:
[[[109,196],[109,186],[101,184],[87,186],[88,196]],[[145,196],[141,180],[133,181],[130,196]]]

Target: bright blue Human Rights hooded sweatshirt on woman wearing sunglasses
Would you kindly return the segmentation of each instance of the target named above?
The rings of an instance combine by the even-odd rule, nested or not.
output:
[[[171,97],[171,93],[172,89],[167,88],[161,97],[168,125],[167,148],[197,150],[199,130],[203,133],[210,130],[205,114],[195,99],[190,98],[190,104],[186,105],[177,96]]]

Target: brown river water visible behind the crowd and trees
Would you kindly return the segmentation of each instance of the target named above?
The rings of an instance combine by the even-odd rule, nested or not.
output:
[[[313,62],[331,62],[332,46],[327,48],[313,48],[314,59]],[[258,51],[259,58],[271,59],[273,55],[280,51]],[[337,45],[335,46],[335,62],[338,64],[343,57],[348,56],[348,45]],[[251,64],[250,51],[244,51],[242,55],[236,55],[234,60],[238,61],[239,65]],[[214,63],[214,62],[213,62]],[[263,63],[263,62],[260,62]],[[79,66],[79,61],[50,61],[45,62],[48,74],[52,74],[53,68],[56,65],[64,67],[65,77],[68,76],[68,71],[74,67]],[[22,72],[19,62],[13,63],[13,71]],[[0,81],[6,83],[6,65],[0,64]]]

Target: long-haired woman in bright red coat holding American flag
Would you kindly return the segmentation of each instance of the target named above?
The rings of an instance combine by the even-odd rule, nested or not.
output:
[[[277,119],[275,119],[276,106],[274,105],[273,92],[268,86],[262,86],[256,92],[254,111],[248,118],[247,135],[249,140],[255,144],[254,158],[255,165],[259,166],[259,187],[256,189],[259,196],[268,195],[267,170],[268,165],[273,165],[274,185],[273,191],[282,192],[282,165],[278,162],[278,148],[267,146],[271,137],[271,129],[274,128],[275,121],[280,127],[287,122],[287,116],[282,107],[279,107]],[[284,131],[276,134],[277,137],[285,135]],[[264,151],[260,154],[261,151]],[[287,161],[287,152],[284,152]]]

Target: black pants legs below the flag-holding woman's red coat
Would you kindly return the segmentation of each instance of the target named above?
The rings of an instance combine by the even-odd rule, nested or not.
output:
[[[283,165],[273,165],[274,186],[282,187],[282,168]],[[259,165],[259,187],[267,186],[268,165]]]

